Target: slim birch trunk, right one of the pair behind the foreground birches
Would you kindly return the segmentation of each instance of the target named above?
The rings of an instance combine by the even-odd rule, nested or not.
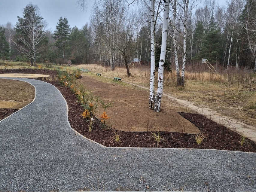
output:
[[[187,57],[187,9],[189,0],[184,0],[184,18],[183,18],[183,63],[181,71],[181,86],[185,85],[185,67]]]

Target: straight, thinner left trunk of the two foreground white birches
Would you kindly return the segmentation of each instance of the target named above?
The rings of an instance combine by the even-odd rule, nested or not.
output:
[[[149,108],[154,108],[155,100],[155,0],[151,0],[150,32],[151,32],[151,67]]]

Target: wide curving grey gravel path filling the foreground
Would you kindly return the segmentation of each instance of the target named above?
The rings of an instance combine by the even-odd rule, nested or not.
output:
[[[17,78],[12,78],[17,79]],[[0,191],[256,191],[256,153],[105,148],[75,133],[56,87],[0,122]]]

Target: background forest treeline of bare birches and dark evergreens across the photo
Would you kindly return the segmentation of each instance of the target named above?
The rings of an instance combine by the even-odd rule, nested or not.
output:
[[[174,2],[177,5],[174,6]],[[170,63],[175,63],[174,50],[177,50],[178,63],[182,63],[184,42],[187,42],[187,63],[201,62],[202,58],[206,58],[212,64],[254,69],[255,0],[227,0],[225,6],[218,5],[214,0],[205,0],[198,5],[197,1],[190,0],[188,17],[184,20],[182,13],[185,6],[182,5],[185,2],[188,1],[177,0],[170,3],[166,69],[169,69]],[[115,66],[127,67],[134,58],[140,61],[140,65],[149,65],[150,1],[138,1],[129,6],[126,1],[121,0],[104,0],[96,4],[91,12],[90,23],[86,23],[82,29],[76,26],[71,29],[68,18],[60,17],[54,31],[46,29],[47,23],[39,15],[36,5],[27,5],[15,26],[8,22],[0,27],[0,58],[30,61],[32,64],[63,64],[69,60],[73,64],[99,63],[110,65],[112,70]],[[156,1],[155,10],[157,66],[163,1]]]

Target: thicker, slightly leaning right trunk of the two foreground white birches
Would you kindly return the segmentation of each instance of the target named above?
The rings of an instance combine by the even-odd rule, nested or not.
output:
[[[165,54],[166,54],[167,30],[168,30],[168,20],[169,20],[169,4],[170,4],[170,0],[164,0],[162,46],[161,46],[160,61],[159,61],[159,68],[158,68],[158,87],[157,87],[157,94],[155,96],[155,102],[154,102],[154,112],[160,112],[161,110],[161,99],[163,95],[163,69],[164,69],[164,61],[165,61]]]

